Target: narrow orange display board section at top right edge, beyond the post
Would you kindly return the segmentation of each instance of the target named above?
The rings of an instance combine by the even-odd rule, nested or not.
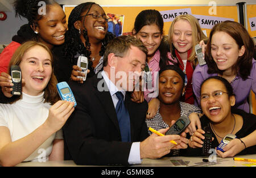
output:
[[[251,37],[256,37],[256,5],[246,5],[247,31]]]

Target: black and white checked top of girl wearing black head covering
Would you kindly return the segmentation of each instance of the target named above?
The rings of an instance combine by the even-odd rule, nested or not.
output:
[[[182,115],[189,116],[193,112],[201,113],[201,109],[199,107],[196,107],[195,105],[180,101],[180,116]],[[147,128],[152,128],[155,130],[165,129],[169,127],[169,125],[163,121],[163,118],[159,113],[159,108],[155,117],[151,119],[146,119],[146,123],[147,123]],[[150,135],[152,134],[152,132],[149,130],[148,130],[148,133]],[[175,156],[179,155],[179,150],[172,150],[172,155],[175,155]]]

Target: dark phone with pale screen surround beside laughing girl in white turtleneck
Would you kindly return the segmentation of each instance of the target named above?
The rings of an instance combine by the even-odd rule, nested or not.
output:
[[[21,95],[22,94],[22,73],[18,65],[12,65],[10,70],[11,80],[13,80],[13,91],[12,95]]]

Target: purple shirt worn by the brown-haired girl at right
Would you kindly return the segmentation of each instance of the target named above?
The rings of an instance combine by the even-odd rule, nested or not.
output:
[[[195,105],[200,104],[200,86],[201,83],[212,76],[217,76],[217,74],[208,74],[207,65],[197,65],[192,77],[192,86],[193,92],[196,95]],[[247,102],[247,97],[250,94],[250,90],[256,93],[256,61],[253,59],[253,67],[251,67],[251,73],[246,80],[242,80],[241,77],[236,76],[232,83],[233,92],[236,95],[236,104],[235,107],[242,109],[245,112],[249,113],[249,103]]]

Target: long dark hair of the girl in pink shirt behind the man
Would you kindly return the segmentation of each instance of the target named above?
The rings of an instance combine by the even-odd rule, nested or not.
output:
[[[158,26],[159,28],[161,35],[163,35],[164,22],[162,15],[159,11],[148,9],[139,12],[134,22],[133,32],[135,33],[133,33],[133,35],[136,35],[144,26],[150,26],[152,24],[156,24],[156,26]],[[167,65],[169,61],[172,62],[167,56],[168,51],[170,51],[169,49],[170,48],[168,48],[168,43],[166,43],[166,39],[164,39],[163,37],[157,49],[160,51],[160,69],[163,66]]]

